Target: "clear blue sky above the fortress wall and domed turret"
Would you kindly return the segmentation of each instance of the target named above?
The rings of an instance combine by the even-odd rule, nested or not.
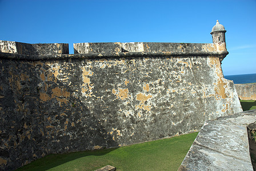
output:
[[[225,27],[224,75],[256,73],[256,0],[0,0],[0,40],[24,43],[212,43]]]

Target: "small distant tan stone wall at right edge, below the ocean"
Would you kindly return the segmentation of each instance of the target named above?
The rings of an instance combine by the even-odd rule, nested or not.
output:
[[[256,83],[235,84],[237,94],[241,100],[256,100]]]

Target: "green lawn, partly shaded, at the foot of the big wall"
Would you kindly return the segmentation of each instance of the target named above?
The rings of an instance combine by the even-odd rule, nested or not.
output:
[[[197,132],[120,148],[50,154],[18,170],[177,170]]]

